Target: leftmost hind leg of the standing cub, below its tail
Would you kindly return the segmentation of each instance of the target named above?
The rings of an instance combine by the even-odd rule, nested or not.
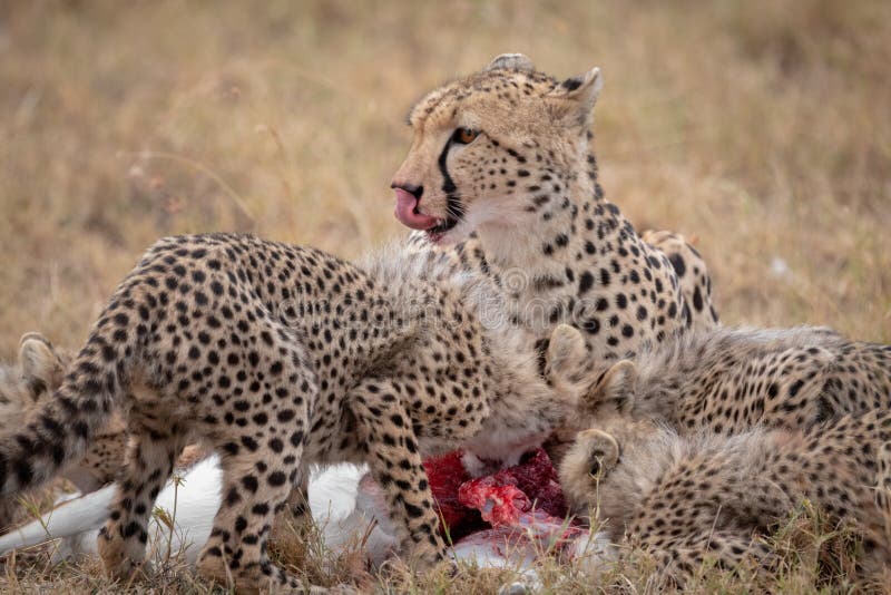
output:
[[[176,436],[147,429],[131,433],[118,494],[99,534],[99,555],[110,576],[127,578],[141,565],[155,498],[182,448],[183,439]]]

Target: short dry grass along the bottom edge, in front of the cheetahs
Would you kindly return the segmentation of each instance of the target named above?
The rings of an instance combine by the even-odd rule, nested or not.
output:
[[[456,573],[439,568],[427,574],[411,572],[399,560],[370,573],[358,549],[335,555],[321,544],[315,529],[287,531],[272,550],[276,562],[300,576],[306,585],[336,587],[349,585],[361,593],[467,594],[499,593],[506,585],[526,585],[545,594],[653,594],[667,587],[655,570],[654,562],[644,553],[631,553],[628,559],[601,568],[594,574],[585,558],[560,562],[542,553],[533,566],[536,577],[519,567],[479,568],[461,563]],[[888,577],[854,579],[854,555],[859,544],[845,528],[828,525],[811,509],[793,515],[789,523],[767,539],[777,553],[771,574],[757,575],[751,568],[722,570],[706,558],[696,576],[685,585],[687,593],[787,593],[817,595],[824,593],[891,593]],[[52,567],[45,550],[8,560],[0,588],[16,593],[167,593],[172,595],[222,593],[183,564],[172,560],[156,567],[150,578],[127,584],[102,577],[98,559]],[[597,576],[597,578],[595,578]],[[515,592],[517,593],[517,592]]]

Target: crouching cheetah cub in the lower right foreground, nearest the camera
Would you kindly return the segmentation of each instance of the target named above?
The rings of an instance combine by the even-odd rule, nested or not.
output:
[[[620,555],[646,553],[675,586],[706,559],[766,576],[777,553],[763,538],[805,501],[830,523],[853,526],[864,577],[891,567],[888,410],[735,436],[682,436],[653,420],[613,416],[578,435],[559,476],[575,514],[603,523]]]

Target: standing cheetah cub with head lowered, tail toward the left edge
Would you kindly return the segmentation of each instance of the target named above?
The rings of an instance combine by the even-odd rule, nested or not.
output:
[[[311,464],[368,462],[408,559],[442,560],[421,458],[461,447],[516,460],[577,402],[509,328],[482,320],[480,304],[500,295],[490,282],[447,282],[435,272],[446,256],[383,254],[359,266],[249,235],[160,240],[52,399],[0,442],[2,494],[52,477],[118,409],[129,443],[99,537],[114,577],[140,569],[155,497],[193,440],[221,455],[224,476],[197,564],[210,579],[304,588],[266,542]],[[569,331],[555,330],[549,352],[584,352]]]

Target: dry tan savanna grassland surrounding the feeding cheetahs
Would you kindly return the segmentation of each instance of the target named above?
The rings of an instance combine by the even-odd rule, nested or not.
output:
[[[557,76],[601,67],[606,196],[639,230],[695,238],[725,323],[891,342],[887,2],[10,1],[0,357],[31,330],[77,344],[161,235],[251,231],[353,257],[402,234],[388,186],[409,106],[505,51]],[[807,547],[790,591],[810,579]],[[0,588],[117,589],[95,564],[40,568]],[[625,569],[628,591],[652,587],[643,568]],[[701,588],[753,586],[709,576]],[[542,577],[596,589],[567,569]],[[386,581],[459,592],[503,579]],[[165,585],[207,588],[187,573]]]

